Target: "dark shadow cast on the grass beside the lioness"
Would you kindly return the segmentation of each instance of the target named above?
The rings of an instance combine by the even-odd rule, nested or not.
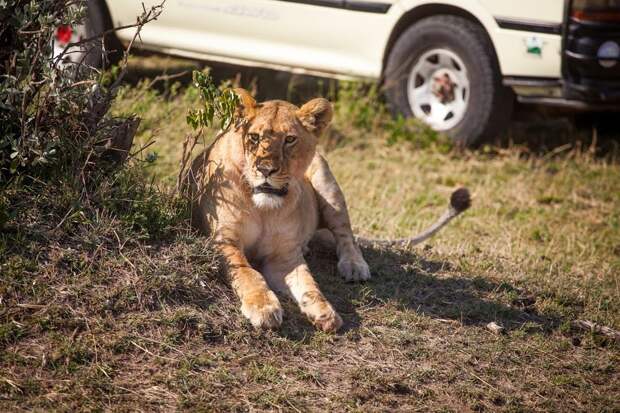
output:
[[[359,309],[367,312],[387,305],[464,326],[484,327],[496,322],[506,331],[527,325],[526,332],[551,332],[561,322],[539,314],[534,308],[536,297],[510,283],[455,274],[452,264],[427,260],[411,250],[365,248],[363,253],[373,273],[373,278],[364,283],[345,283],[337,274],[337,258],[332,251],[314,248],[307,257],[323,293],[345,321],[343,331],[362,325]],[[293,336],[307,333],[306,328],[299,330],[301,320],[294,317],[291,325],[293,322],[300,323]],[[289,326],[286,331],[293,329]]]

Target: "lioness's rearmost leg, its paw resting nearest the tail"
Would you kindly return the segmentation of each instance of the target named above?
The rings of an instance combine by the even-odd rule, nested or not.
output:
[[[344,195],[327,161],[319,154],[312,161],[309,179],[319,201],[321,223],[334,235],[338,271],[347,281],[369,279],[370,269],[353,237]]]

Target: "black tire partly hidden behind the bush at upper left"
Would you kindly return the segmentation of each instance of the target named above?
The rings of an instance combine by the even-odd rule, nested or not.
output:
[[[84,22],[86,36],[93,37],[112,29],[112,19],[103,0],[88,0],[88,15]],[[108,33],[103,38],[105,53],[101,41],[94,41],[84,58],[88,66],[105,69],[118,63],[123,57],[123,45],[115,33]]]

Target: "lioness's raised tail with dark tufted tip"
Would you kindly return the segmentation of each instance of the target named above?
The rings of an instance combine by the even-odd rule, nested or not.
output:
[[[421,242],[426,241],[433,235],[435,235],[441,228],[443,228],[453,218],[457,217],[461,212],[465,211],[471,206],[471,196],[467,188],[459,188],[452,192],[450,196],[450,205],[448,209],[443,213],[441,217],[433,225],[422,231],[420,234],[410,238],[400,238],[394,240],[386,239],[369,239],[356,237],[356,240],[360,246],[402,246],[411,247]]]

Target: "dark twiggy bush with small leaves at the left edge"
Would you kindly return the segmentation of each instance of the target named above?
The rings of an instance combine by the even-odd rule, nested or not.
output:
[[[78,174],[83,183],[99,158],[118,160],[115,145],[128,149],[137,121],[107,115],[119,82],[83,62],[53,56],[59,26],[83,23],[83,1],[0,2],[0,176],[49,178]],[[157,7],[138,19],[138,30],[157,17]],[[99,38],[71,43],[88,50]],[[122,77],[122,72],[120,77]],[[118,79],[117,79],[118,80]],[[129,142],[128,142],[129,141]],[[122,145],[121,145],[122,146]],[[112,151],[112,152],[111,152]],[[50,172],[52,172],[50,176]]]

